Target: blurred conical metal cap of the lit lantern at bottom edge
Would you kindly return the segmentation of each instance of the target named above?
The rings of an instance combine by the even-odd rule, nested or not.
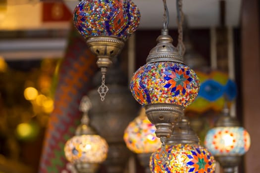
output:
[[[173,127],[172,134],[167,140],[167,144],[198,144],[198,135],[190,127],[187,117],[183,116],[181,121]]]

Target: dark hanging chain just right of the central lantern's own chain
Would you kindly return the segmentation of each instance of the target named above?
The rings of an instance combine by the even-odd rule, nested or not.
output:
[[[183,43],[183,29],[182,24],[184,20],[184,15],[182,11],[182,0],[176,0],[176,7],[177,7],[177,24],[178,24],[178,49],[179,53],[183,56],[185,53],[185,45]]]

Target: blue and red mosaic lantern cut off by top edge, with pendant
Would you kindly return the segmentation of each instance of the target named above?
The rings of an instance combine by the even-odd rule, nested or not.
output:
[[[111,58],[117,56],[124,41],[139,25],[140,12],[131,0],[81,0],[74,10],[74,24],[86,39],[91,51],[97,55],[97,65],[101,68],[101,99],[108,91],[104,85]]]

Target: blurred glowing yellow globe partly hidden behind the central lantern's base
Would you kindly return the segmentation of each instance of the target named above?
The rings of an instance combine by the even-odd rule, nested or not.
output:
[[[155,134],[156,127],[147,116],[138,116],[125,130],[124,141],[127,148],[135,153],[152,153],[160,147],[160,139]]]

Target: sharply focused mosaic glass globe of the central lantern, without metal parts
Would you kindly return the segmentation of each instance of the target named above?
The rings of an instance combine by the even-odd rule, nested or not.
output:
[[[198,95],[199,79],[188,66],[174,62],[154,62],[140,67],[130,89],[143,106],[172,103],[187,107]]]

